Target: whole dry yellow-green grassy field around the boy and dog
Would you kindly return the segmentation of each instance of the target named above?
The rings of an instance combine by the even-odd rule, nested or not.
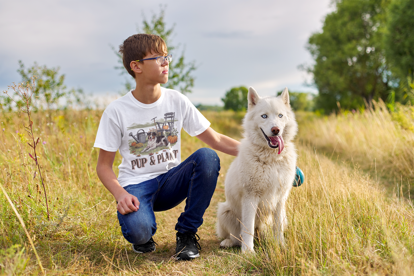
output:
[[[32,179],[35,164],[28,155],[23,115],[2,114],[0,181],[34,238],[48,275],[413,275],[414,209],[404,180],[412,177],[413,113],[376,110],[328,117],[298,113],[298,166],[306,182],[289,196],[287,247],[265,239],[256,243],[255,255],[218,247],[215,208],[224,201],[224,178],[233,159],[223,153],[218,153],[217,189],[198,232],[201,257],[189,262],[171,259],[174,225],[183,203],[156,213],[156,252],[135,254],[120,233],[116,203],[95,172],[99,151],[92,145],[101,111],[32,114],[35,135],[41,137],[39,163],[50,221],[39,179]],[[216,131],[241,138],[243,113],[203,114]],[[205,146],[181,134],[183,160]],[[117,153],[116,173],[119,163]],[[383,190],[390,185],[395,186],[393,194]],[[0,274],[39,274],[24,231],[2,193],[0,222]]]

